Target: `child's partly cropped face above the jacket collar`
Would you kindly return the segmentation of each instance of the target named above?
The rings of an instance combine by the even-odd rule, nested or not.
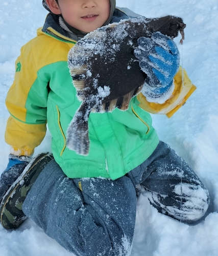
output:
[[[110,0],[46,0],[50,10],[62,14],[70,26],[89,33],[102,27],[110,15]]]

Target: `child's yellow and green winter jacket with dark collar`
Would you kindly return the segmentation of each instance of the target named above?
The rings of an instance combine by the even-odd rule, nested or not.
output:
[[[117,9],[115,13],[123,15]],[[112,113],[91,113],[89,155],[77,155],[66,147],[67,127],[81,104],[67,66],[68,52],[75,44],[76,40],[59,26],[56,15],[49,14],[37,36],[21,48],[15,79],[6,98],[10,117],[5,139],[12,146],[12,154],[32,155],[43,140],[47,125],[54,158],[69,178],[117,179],[154,152],[159,139],[147,111],[171,112],[182,105],[184,97],[178,103],[183,91],[182,76],[175,77],[174,95],[165,105],[152,105],[139,94],[125,112],[115,109]],[[186,83],[193,89],[187,77]]]

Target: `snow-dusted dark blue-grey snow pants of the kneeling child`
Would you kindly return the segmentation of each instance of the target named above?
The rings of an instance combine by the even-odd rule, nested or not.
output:
[[[127,256],[138,184],[158,211],[179,221],[199,220],[208,208],[208,191],[197,175],[160,142],[145,162],[117,180],[69,179],[53,160],[35,181],[22,210],[77,256]]]

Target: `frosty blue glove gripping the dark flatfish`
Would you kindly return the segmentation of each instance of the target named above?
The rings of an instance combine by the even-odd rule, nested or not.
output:
[[[139,37],[134,55],[148,76],[145,82],[149,90],[157,94],[167,92],[179,69],[180,56],[175,42],[160,32],[153,33],[151,38]]]

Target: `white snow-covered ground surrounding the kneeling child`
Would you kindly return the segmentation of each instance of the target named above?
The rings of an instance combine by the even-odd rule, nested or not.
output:
[[[153,115],[161,140],[169,143],[201,177],[210,192],[209,212],[201,223],[188,226],[161,215],[147,198],[138,199],[132,256],[218,255],[218,0],[117,0],[147,17],[168,14],[187,24],[183,46],[178,45],[181,64],[197,91],[171,118]],[[41,0],[0,0],[0,174],[8,162],[4,141],[8,112],[5,97],[13,82],[20,48],[36,36],[46,10]],[[179,42],[181,37],[175,41]],[[36,153],[50,151],[50,134]],[[96,241],[97,242],[97,241]],[[31,220],[13,231],[0,226],[2,256],[69,256]]]

